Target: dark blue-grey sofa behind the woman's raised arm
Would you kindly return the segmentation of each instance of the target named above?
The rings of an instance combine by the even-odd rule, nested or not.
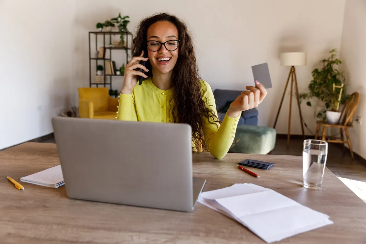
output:
[[[213,92],[213,96],[216,101],[217,115],[219,119],[223,121],[225,113],[220,112],[227,102],[234,101],[242,92],[238,90],[221,90],[216,89]],[[258,110],[252,108],[242,112],[242,116],[239,119],[238,125],[258,125]]]

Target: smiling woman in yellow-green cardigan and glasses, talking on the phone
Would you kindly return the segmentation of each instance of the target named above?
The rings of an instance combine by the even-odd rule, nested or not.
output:
[[[125,67],[116,119],[187,123],[192,127],[193,151],[208,150],[218,159],[229,151],[242,111],[257,107],[267,93],[259,82],[258,89],[247,86],[220,122],[212,90],[199,78],[187,26],[173,15],[143,19],[132,55]],[[140,61],[146,61],[146,66]],[[142,85],[137,85],[139,76],[145,78]]]

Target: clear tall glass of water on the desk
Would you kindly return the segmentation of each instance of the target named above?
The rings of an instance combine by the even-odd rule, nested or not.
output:
[[[323,181],[328,143],[321,140],[305,140],[302,151],[304,187],[320,189]]]

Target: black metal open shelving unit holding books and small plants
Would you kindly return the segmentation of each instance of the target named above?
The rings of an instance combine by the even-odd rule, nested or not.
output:
[[[128,39],[129,37],[133,38],[132,36],[132,33],[131,32],[125,32],[125,43],[126,43],[126,47],[109,47],[109,44],[112,43],[112,36],[115,36],[115,35],[120,35],[121,33],[120,32],[89,32],[89,86],[91,87],[92,85],[96,85],[96,87],[98,87],[98,85],[103,85],[104,87],[106,85],[109,85],[109,89],[112,89],[112,77],[114,76],[123,76],[123,75],[108,75],[108,74],[105,74],[105,63],[104,63],[104,60],[111,60],[112,61],[112,50],[125,50],[126,51],[126,63],[128,63],[128,51],[131,50],[131,48],[128,48]],[[106,49],[106,54],[107,54],[107,50],[109,50],[109,58],[93,58],[91,56],[91,44],[90,44],[90,39],[91,39],[91,36],[94,35],[95,36],[95,50],[98,50],[99,47],[101,47],[101,45],[98,45],[98,36],[103,36],[103,46],[104,49]],[[105,37],[109,36],[109,42],[106,46],[106,40],[105,40]],[[97,70],[97,66],[98,66],[98,60],[102,60],[103,64],[103,80],[104,80],[104,83],[94,83],[92,81],[93,77],[92,77],[92,74],[91,74],[91,63],[92,63],[92,60],[96,60],[95,61],[95,70]],[[109,79],[107,79],[106,77],[109,77]]]

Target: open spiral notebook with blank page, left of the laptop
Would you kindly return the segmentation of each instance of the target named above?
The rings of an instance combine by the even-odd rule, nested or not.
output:
[[[61,165],[21,177],[20,181],[52,188],[59,188],[65,185]]]

